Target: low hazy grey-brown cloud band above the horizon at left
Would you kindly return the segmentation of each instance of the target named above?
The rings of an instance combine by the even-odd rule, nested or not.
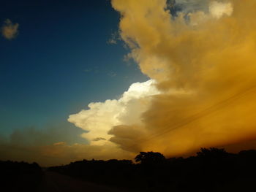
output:
[[[84,131],[80,128],[52,126],[40,130],[24,128],[15,130],[10,137],[0,137],[0,159],[2,161],[37,162],[41,166],[69,164],[81,159],[133,158],[113,143],[102,146],[88,145],[86,139],[79,139]],[[104,138],[97,138],[103,139]]]

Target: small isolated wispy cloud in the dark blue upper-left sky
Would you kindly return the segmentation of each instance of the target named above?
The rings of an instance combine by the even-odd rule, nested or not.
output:
[[[14,39],[18,35],[18,23],[12,23],[10,19],[4,21],[4,25],[1,28],[1,34],[6,39]]]

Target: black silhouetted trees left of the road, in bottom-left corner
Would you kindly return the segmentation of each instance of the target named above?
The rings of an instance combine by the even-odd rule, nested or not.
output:
[[[42,182],[42,169],[37,163],[0,161],[3,191],[37,191]]]

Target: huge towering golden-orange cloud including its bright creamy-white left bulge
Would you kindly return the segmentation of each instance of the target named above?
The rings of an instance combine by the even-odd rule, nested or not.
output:
[[[255,0],[111,2],[128,57],[157,88],[71,115],[91,145],[184,155],[256,138]]]

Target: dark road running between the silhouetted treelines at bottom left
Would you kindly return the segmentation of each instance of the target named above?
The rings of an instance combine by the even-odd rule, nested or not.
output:
[[[56,172],[45,172],[45,177],[39,185],[39,192],[118,192],[123,189],[110,188],[104,185],[97,185],[75,178],[58,174]]]

